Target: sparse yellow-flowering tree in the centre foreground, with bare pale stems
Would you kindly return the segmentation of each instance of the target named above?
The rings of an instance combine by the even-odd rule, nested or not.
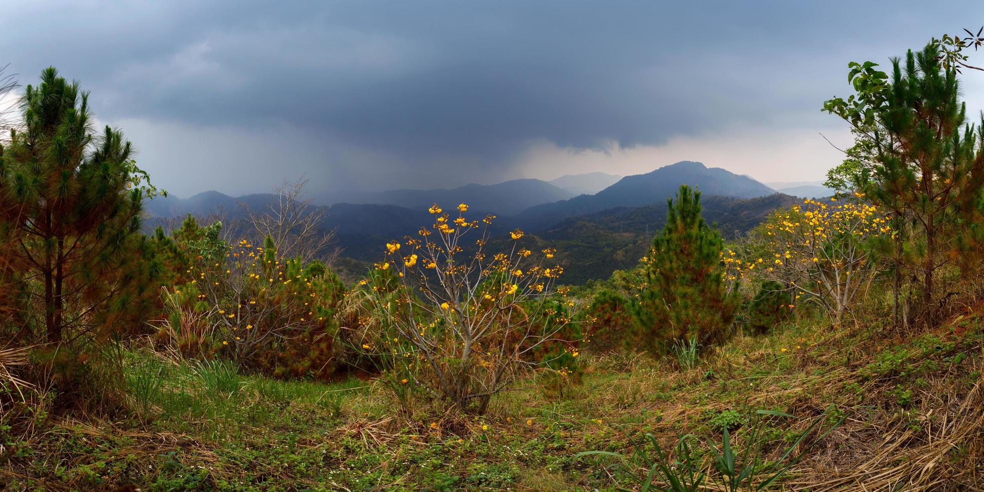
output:
[[[376,269],[394,272],[388,278],[401,288],[374,288],[381,277],[373,276],[364,291],[395,337],[386,346],[363,349],[411,361],[405,365],[413,368],[406,384],[483,413],[524,367],[549,362],[534,354],[563,342],[559,334],[571,320],[569,312],[558,313],[551,298],[563,273],[551,262],[555,251],[523,248],[523,231],[516,229],[509,233],[509,251],[490,253],[486,245],[495,216],[470,219],[467,209],[461,204],[449,214],[434,205],[431,226],[387,243]]]

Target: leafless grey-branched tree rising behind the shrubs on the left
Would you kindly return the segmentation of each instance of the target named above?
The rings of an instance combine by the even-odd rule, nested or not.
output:
[[[307,183],[307,178],[292,183],[284,181],[274,188],[275,199],[266,210],[251,210],[243,202],[239,206],[252,224],[258,240],[262,241],[268,235],[274,239],[277,256],[300,257],[305,262],[317,258],[331,265],[339,253],[338,247],[335,247],[336,231],[324,228],[327,208],[313,206],[310,200],[303,199]]]

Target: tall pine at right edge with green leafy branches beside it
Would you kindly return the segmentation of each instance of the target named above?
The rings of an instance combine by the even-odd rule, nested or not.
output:
[[[892,79],[876,64],[852,63],[857,94],[830,99],[825,109],[853,127],[855,145],[831,178],[892,214],[896,313],[903,273],[918,279],[924,321],[936,311],[937,272],[951,253],[976,242],[984,183],[981,126],[967,125],[953,66],[940,45],[892,60]]]

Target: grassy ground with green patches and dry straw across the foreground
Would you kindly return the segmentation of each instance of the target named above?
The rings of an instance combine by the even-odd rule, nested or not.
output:
[[[764,421],[775,461],[833,403],[823,424],[843,423],[803,441],[793,456],[806,455],[778,489],[982,489],[982,327],[972,313],[909,334],[802,322],[736,338],[689,371],[583,355],[581,384],[545,391],[527,381],[480,418],[427,406],[401,414],[368,380],[282,382],[135,350],[130,416],[39,416],[26,441],[6,443],[0,481],[10,490],[611,490],[633,487],[605,467],[616,459],[575,455],[627,454],[627,433],[651,432],[664,449],[690,434],[709,466],[722,429],[740,448],[756,409],[803,417]]]

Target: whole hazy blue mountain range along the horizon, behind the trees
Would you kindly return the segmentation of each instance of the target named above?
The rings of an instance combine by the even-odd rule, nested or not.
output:
[[[606,182],[611,184],[593,194],[576,195]],[[534,246],[556,248],[562,264],[572,266],[566,269],[570,274],[565,276],[567,281],[580,283],[634,265],[645,254],[652,235],[662,227],[666,201],[681,184],[702,192],[707,220],[717,222],[728,237],[754,227],[769,212],[798,201],[792,194],[777,193],[751,177],[701,162],[681,161],[625,177],[588,173],[551,182],[517,179],[450,190],[394,190],[364,194],[364,203],[314,207],[325,210],[321,227],[337,231],[338,245],[346,257],[342,263],[353,275],[361,274],[369,262],[378,260],[387,241],[415,234],[421,225],[431,223],[433,217],[427,208],[432,203],[447,209],[465,203],[470,207],[469,214],[499,215],[493,235],[506,236],[507,230],[522,227]],[[187,214],[223,212],[228,218],[241,217],[240,203],[259,210],[276,198],[272,194],[233,198],[215,191],[187,199],[158,197],[147,204],[152,217],[148,225]]]

